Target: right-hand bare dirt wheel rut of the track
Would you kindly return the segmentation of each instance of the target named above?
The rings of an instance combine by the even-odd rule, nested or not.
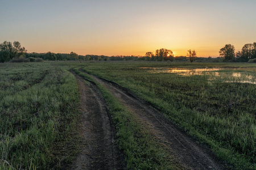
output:
[[[108,88],[121,103],[139,118],[143,125],[148,125],[152,135],[158,137],[162,143],[167,143],[166,150],[171,150],[175,158],[185,167],[188,169],[225,169],[225,164],[218,160],[208,147],[197,144],[195,139],[177,128],[146,101],[139,99],[132,92],[114,82],[94,75],[91,76]]]

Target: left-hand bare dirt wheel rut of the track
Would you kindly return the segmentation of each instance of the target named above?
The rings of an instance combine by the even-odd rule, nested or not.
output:
[[[72,169],[125,169],[114,138],[114,128],[95,84],[75,74],[80,91],[83,143]]]

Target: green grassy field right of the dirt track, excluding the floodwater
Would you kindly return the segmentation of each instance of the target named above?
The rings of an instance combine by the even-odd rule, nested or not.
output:
[[[90,63],[84,67],[86,72],[112,80],[155,105],[237,169],[255,169],[255,84],[209,83],[207,74],[150,73],[145,67],[243,67],[243,71],[255,74],[255,65],[122,62]]]

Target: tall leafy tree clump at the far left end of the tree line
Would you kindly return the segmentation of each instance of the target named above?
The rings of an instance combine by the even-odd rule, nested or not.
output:
[[[20,45],[18,41],[11,42],[4,41],[0,44],[0,61],[10,61],[14,57],[23,57],[27,50]]]

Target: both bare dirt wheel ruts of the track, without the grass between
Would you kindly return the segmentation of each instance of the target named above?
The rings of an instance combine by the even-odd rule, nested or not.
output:
[[[195,139],[188,137],[150,104],[116,83],[91,76],[108,88],[187,169],[225,169],[225,165],[209,148],[197,144]],[[85,141],[74,169],[125,169],[123,156],[115,143],[114,129],[100,92],[93,83],[85,83],[79,75],[76,75],[76,78],[81,94]]]

